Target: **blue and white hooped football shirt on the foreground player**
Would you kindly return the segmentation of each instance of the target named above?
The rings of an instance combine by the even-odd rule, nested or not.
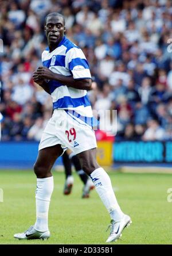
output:
[[[65,36],[54,51],[49,52],[49,48],[46,48],[42,52],[42,64],[54,73],[72,75],[76,80],[91,78],[83,51]],[[58,81],[49,81],[48,85],[53,100],[53,109],[73,110],[80,116],[92,118],[91,104],[86,90],[68,87]]]

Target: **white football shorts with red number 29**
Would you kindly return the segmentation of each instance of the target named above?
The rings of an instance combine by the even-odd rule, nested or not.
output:
[[[63,109],[54,109],[53,116],[42,133],[38,149],[57,144],[60,144],[64,151],[69,148],[75,154],[97,147],[93,129]]]

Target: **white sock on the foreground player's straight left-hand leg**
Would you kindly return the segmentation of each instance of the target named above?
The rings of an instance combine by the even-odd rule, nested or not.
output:
[[[48,230],[48,211],[50,198],[54,188],[53,176],[48,178],[37,178],[36,189],[36,213],[37,220],[34,228],[37,231]]]

